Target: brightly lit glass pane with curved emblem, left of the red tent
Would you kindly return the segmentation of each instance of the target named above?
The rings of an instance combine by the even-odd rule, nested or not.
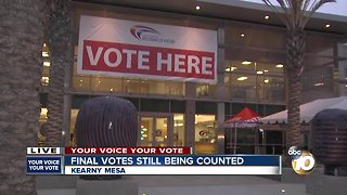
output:
[[[195,115],[195,154],[215,154],[216,139],[216,116]]]

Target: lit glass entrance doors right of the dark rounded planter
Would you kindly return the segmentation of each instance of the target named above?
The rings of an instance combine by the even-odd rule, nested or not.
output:
[[[171,115],[140,115],[139,146],[172,146]]]

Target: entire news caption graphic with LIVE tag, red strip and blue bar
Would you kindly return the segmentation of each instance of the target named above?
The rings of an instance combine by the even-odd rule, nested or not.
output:
[[[190,147],[28,147],[27,174],[281,174],[279,155],[192,155]]]

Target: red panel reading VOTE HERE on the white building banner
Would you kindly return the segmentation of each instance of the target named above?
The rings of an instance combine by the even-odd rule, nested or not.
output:
[[[82,70],[90,73],[214,80],[215,61],[213,52],[83,41]]]

